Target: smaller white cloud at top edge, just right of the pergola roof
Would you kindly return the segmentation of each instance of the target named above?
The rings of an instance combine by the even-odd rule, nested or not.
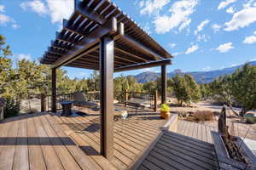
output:
[[[158,14],[170,0],[146,0],[139,3],[139,7],[143,8],[141,14]]]

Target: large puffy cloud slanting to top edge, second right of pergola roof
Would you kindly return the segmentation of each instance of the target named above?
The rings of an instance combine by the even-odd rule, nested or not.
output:
[[[169,9],[171,15],[158,15],[154,18],[155,31],[159,34],[171,31],[179,26],[179,31],[189,26],[191,19],[190,14],[195,12],[195,6],[198,0],[181,0],[172,4]]]

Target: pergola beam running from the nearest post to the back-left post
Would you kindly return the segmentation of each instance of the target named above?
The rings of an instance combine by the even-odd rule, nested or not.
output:
[[[91,32],[87,37],[77,43],[76,49],[70,49],[67,54],[61,56],[52,67],[59,67],[61,65],[67,65],[70,60],[78,59],[81,57],[79,54],[83,54],[84,49],[91,48],[100,41],[101,37],[104,37],[109,34],[114,34],[117,31],[117,20],[113,18],[108,20],[104,26],[98,26],[95,31]],[[79,57],[78,57],[79,55]]]

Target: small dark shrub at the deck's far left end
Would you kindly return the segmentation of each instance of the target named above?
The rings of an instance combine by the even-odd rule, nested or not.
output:
[[[4,108],[4,117],[17,116],[20,112],[20,102],[15,99],[7,98]]]

